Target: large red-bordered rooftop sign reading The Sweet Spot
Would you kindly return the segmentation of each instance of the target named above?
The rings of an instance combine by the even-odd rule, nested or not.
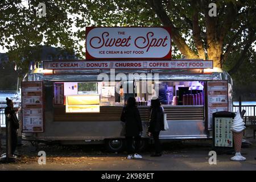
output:
[[[86,27],[86,59],[171,59],[170,27]]]

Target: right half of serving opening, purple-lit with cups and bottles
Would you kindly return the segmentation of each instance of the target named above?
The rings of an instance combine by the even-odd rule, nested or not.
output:
[[[162,105],[204,105],[204,81],[135,81],[138,105],[150,105],[158,97]]]

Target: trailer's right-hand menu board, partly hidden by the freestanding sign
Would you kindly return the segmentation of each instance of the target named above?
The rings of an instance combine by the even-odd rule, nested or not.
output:
[[[212,114],[218,111],[228,111],[228,81],[208,81],[207,98],[208,130],[212,130]]]

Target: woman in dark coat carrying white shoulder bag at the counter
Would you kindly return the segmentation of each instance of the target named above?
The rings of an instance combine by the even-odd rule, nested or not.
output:
[[[159,133],[164,130],[164,114],[159,99],[151,100],[150,126],[148,127],[148,136],[153,136],[155,143],[155,154],[151,156],[161,156],[162,149],[159,141]]]

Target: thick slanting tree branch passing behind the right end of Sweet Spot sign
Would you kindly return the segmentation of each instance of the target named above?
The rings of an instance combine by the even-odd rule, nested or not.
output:
[[[182,38],[182,36],[176,30],[176,27],[174,26],[174,24],[168,17],[160,0],[147,0],[147,2],[152,7],[152,9],[155,11],[156,15],[158,15],[158,17],[161,20],[161,22],[163,23],[163,25],[171,27],[172,40],[174,40],[174,43],[176,44],[179,51],[188,59],[198,58],[199,56],[196,55],[196,53],[193,52],[192,49],[188,47],[187,43],[185,43],[185,40]]]

